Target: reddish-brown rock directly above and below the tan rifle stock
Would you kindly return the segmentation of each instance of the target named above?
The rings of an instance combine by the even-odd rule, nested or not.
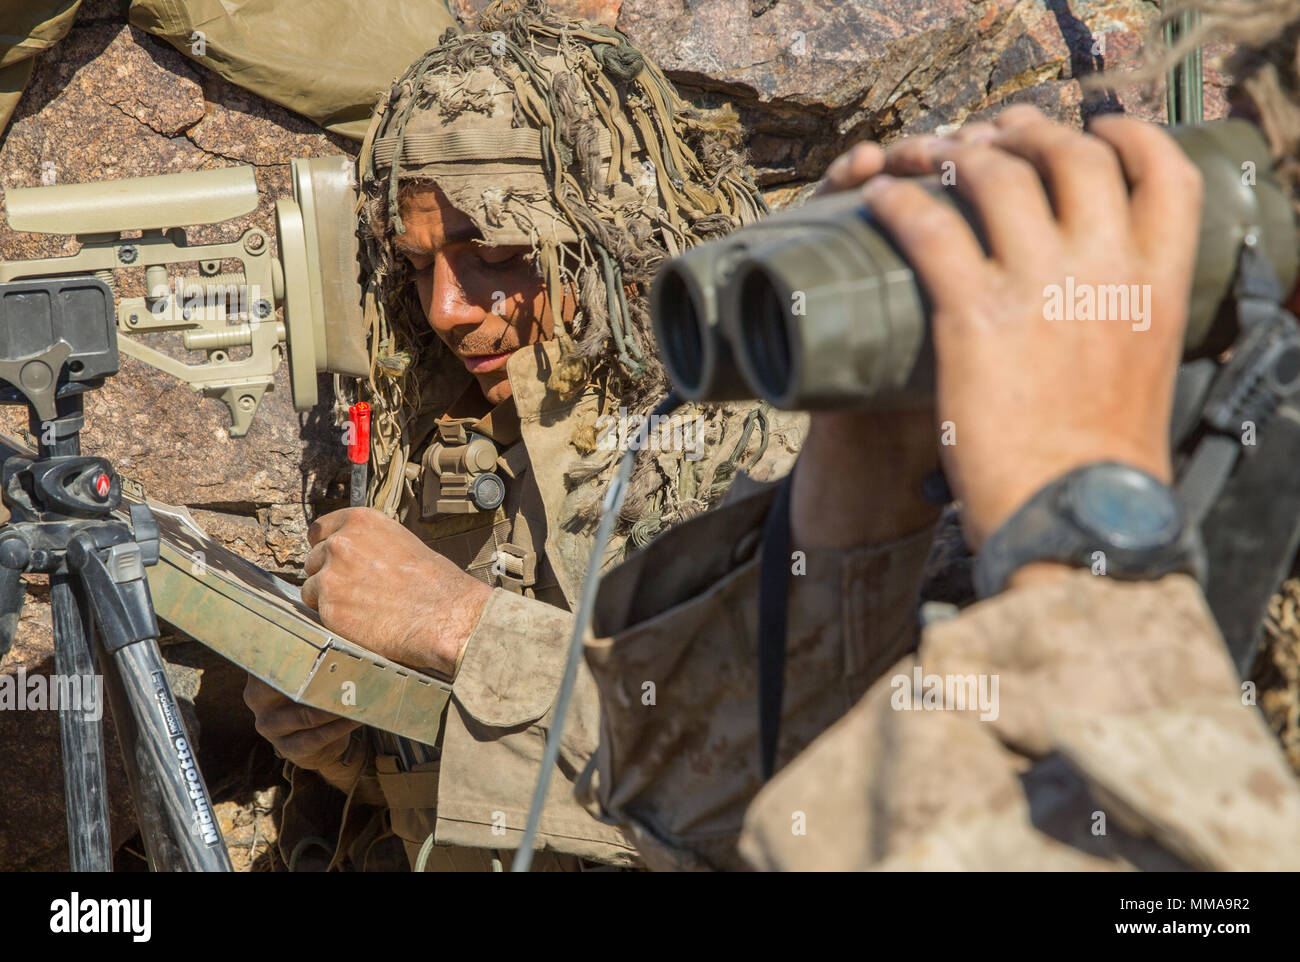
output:
[[[43,177],[81,183],[251,164],[257,209],[190,230],[195,243],[228,242],[250,225],[274,238],[273,205],[291,190],[290,159],[351,150],[350,142],[200,73],[113,16],[78,21],[56,53],[38,64],[0,147],[0,169],[5,187],[30,187]],[[5,259],[68,252],[66,237],[0,231]],[[195,361],[174,343],[153,346]],[[321,386],[326,403],[296,413],[281,365],[248,434],[231,438],[220,402],[196,398],[176,378],[122,358],[121,373],[86,400],[82,447],[110,458],[150,497],[214,512],[222,530],[231,524],[238,529],[231,529],[233,547],[291,571],[306,549],[306,506],[325,499],[347,471],[341,433],[328,417],[329,386]],[[26,415],[10,408],[5,422],[21,430]],[[250,525],[256,533],[246,530]]]

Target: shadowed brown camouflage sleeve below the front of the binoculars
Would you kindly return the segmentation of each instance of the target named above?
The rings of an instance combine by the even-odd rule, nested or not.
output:
[[[776,485],[666,532],[601,589],[586,660],[601,742],[578,781],[651,868],[742,868],[762,786],[758,549]],[[790,559],[777,764],[788,764],[916,640],[927,526],[900,541]]]

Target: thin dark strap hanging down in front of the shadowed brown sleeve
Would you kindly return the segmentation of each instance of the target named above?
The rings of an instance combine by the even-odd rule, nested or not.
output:
[[[758,750],[763,781],[776,770],[785,694],[785,616],[790,586],[790,478],[776,491],[763,525],[758,563]]]

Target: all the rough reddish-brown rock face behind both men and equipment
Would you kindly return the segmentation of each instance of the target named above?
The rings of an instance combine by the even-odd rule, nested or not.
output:
[[[472,23],[486,0],[454,4]],[[121,6],[87,0],[69,36],[38,61],[0,140],[0,185],[250,164],[257,209],[237,222],[192,230],[191,239],[230,240],[248,225],[274,238],[273,204],[290,191],[290,159],[354,153],[356,146],[195,66],[127,26]],[[1075,124],[1117,105],[1164,116],[1162,94],[1143,100],[1126,92],[1115,100],[1086,96],[1079,84],[1086,73],[1136,61],[1141,31],[1158,13],[1145,0],[554,0],[554,6],[624,31],[688,100],[733,103],[751,133],[759,183],[775,205],[857,140],[945,130],[1009,103],[1031,101]],[[403,66],[394,64],[393,73]],[[1213,117],[1223,108],[1223,81],[1209,60],[1208,70],[1206,114]],[[0,224],[0,257],[70,252],[66,237],[17,234]],[[174,343],[161,350],[183,356]],[[247,437],[233,439],[220,402],[198,399],[178,381],[124,358],[121,374],[87,399],[83,450],[113,459],[151,497],[190,506],[209,534],[243,556],[292,576],[309,520],[342,506],[344,497],[347,463],[329,416],[329,384],[320,386],[322,403],[295,413],[282,367]],[[0,410],[0,426],[21,433],[26,413]],[[49,615],[40,607],[47,597],[32,585],[18,641],[0,672],[53,672]],[[250,829],[244,863],[251,863],[272,831],[259,826],[276,764],[266,763],[269,749],[239,698],[242,672],[192,641],[178,640],[168,651],[173,682],[203,729],[200,758],[218,803],[235,770],[270,772],[240,786],[239,798],[252,798],[252,807],[218,805],[230,831]],[[112,725],[105,731],[114,838],[121,840],[131,832],[131,812]],[[0,711],[0,870],[66,866],[64,832],[57,716]]]

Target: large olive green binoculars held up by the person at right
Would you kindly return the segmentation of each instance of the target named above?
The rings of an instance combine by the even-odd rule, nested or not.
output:
[[[1251,124],[1170,134],[1205,179],[1186,354],[1212,356],[1236,335],[1243,246],[1258,250],[1282,290],[1292,290],[1300,272],[1294,208]],[[980,233],[954,190],[939,178],[924,183]],[[686,400],[762,398],[797,411],[932,403],[926,292],[858,191],[783,211],[666,261],[650,289],[650,315]]]

